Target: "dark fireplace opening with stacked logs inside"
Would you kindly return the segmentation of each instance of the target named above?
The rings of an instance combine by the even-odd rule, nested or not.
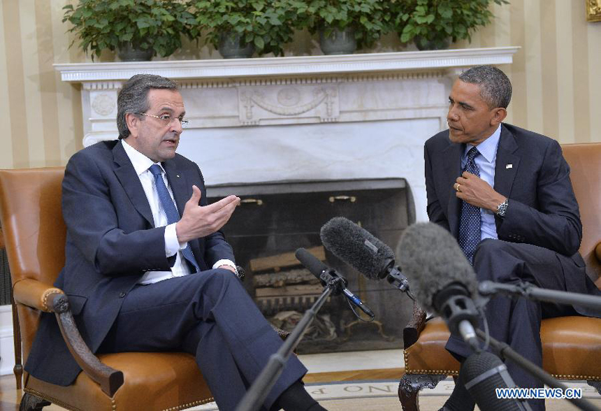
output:
[[[212,203],[240,197],[224,226],[243,284],[259,310],[275,326],[292,331],[323,287],[294,252],[304,247],[348,281],[347,288],[375,313],[373,322],[354,315],[344,296],[331,296],[299,343],[298,354],[403,347],[403,327],[412,301],[385,280],[366,279],[321,245],[319,231],[342,216],[398,247],[401,233],[415,220],[410,187],[403,178],[259,182],[208,187]]]

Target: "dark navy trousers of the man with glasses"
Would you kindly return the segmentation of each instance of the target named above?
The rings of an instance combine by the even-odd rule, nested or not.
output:
[[[99,351],[194,354],[219,410],[227,411],[280,345],[236,275],[218,268],[133,287]],[[306,372],[291,356],[265,408]]]

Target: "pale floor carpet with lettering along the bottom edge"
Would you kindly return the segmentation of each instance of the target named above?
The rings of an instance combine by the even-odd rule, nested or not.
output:
[[[601,396],[586,382],[565,382],[570,388],[581,388],[585,398],[601,409]],[[306,384],[307,391],[328,411],[384,411],[400,410],[398,380],[345,381]],[[419,394],[422,411],[439,410],[454,388],[452,378],[441,381],[435,389],[423,389]],[[565,400],[547,399],[547,411],[577,410]],[[217,411],[215,403],[190,408],[190,411]],[[478,410],[478,408],[476,408]]]

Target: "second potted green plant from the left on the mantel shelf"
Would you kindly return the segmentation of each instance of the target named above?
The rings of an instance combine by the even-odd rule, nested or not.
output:
[[[284,55],[283,46],[292,40],[298,15],[293,0],[191,0],[195,16],[191,36],[205,34],[223,57],[251,57],[272,52]]]

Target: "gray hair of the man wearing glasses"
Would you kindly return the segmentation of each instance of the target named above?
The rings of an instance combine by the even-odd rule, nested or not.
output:
[[[136,74],[123,85],[117,96],[117,129],[119,138],[129,136],[125,121],[127,113],[146,113],[150,108],[148,92],[150,89],[177,90],[175,81],[154,74]]]

